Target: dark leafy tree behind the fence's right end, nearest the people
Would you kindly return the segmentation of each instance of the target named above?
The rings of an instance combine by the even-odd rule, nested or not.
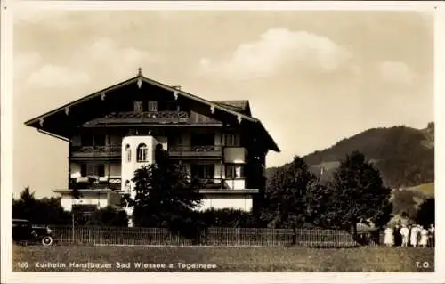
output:
[[[323,218],[335,227],[352,228],[355,239],[357,223],[370,221],[380,227],[391,218],[391,189],[359,151],[344,159],[326,190]]]

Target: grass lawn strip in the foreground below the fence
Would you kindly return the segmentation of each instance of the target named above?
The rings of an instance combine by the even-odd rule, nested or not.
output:
[[[69,267],[89,262],[109,264],[109,267]],[[128,267],[117,268],[117,262]],[[40,267],[48,263],[65,264],[65,267]],[[137,268],[135,263],[147,266]],[[165,268],[153,267],[153,264],[164,264]],[[211,265],[197,268],[192,264]],[[423,268],[422,264],[429,267]],[[419,247],[13,246],[12,266],[16,272],[434,272],[434,250]]]

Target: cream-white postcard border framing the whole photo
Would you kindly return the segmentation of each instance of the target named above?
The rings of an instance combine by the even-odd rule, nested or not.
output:
[[[2,283],[85,283],[85,282],[132,282],[132,283],[421,283],[443,282],[445,259],[441,239],[444,239],[443,207],[436,206],[436,253],[434,273],[218,273],[218,272],[11,272],[11,218],[12,218],[12,10],[55,9],[55,10],[388,10],[435,12],[434,54],[434,109],[435,109],[435,199],[441,204],[444,187],[441,169],[445,168],[444,116],[445,116],[445,4],[441,2],[95,2],[95,1],[4,1],[2,2],[1,25],[1,264]],[[445,195],[444,195],[445,196]]]

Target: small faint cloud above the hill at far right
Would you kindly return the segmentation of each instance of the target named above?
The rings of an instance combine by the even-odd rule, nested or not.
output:
[[[396,85],[412,85],[417,77],[414,70],[402,61],[384,61],[378,65],[384,81]]]

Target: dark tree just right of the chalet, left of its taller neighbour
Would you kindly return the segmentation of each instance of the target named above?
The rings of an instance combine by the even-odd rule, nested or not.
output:
[[[266,187],[261,219],[269,227],[302,226],[311,218],[308,193],[316,188],[316,178],[303,158],[276,170]]]

